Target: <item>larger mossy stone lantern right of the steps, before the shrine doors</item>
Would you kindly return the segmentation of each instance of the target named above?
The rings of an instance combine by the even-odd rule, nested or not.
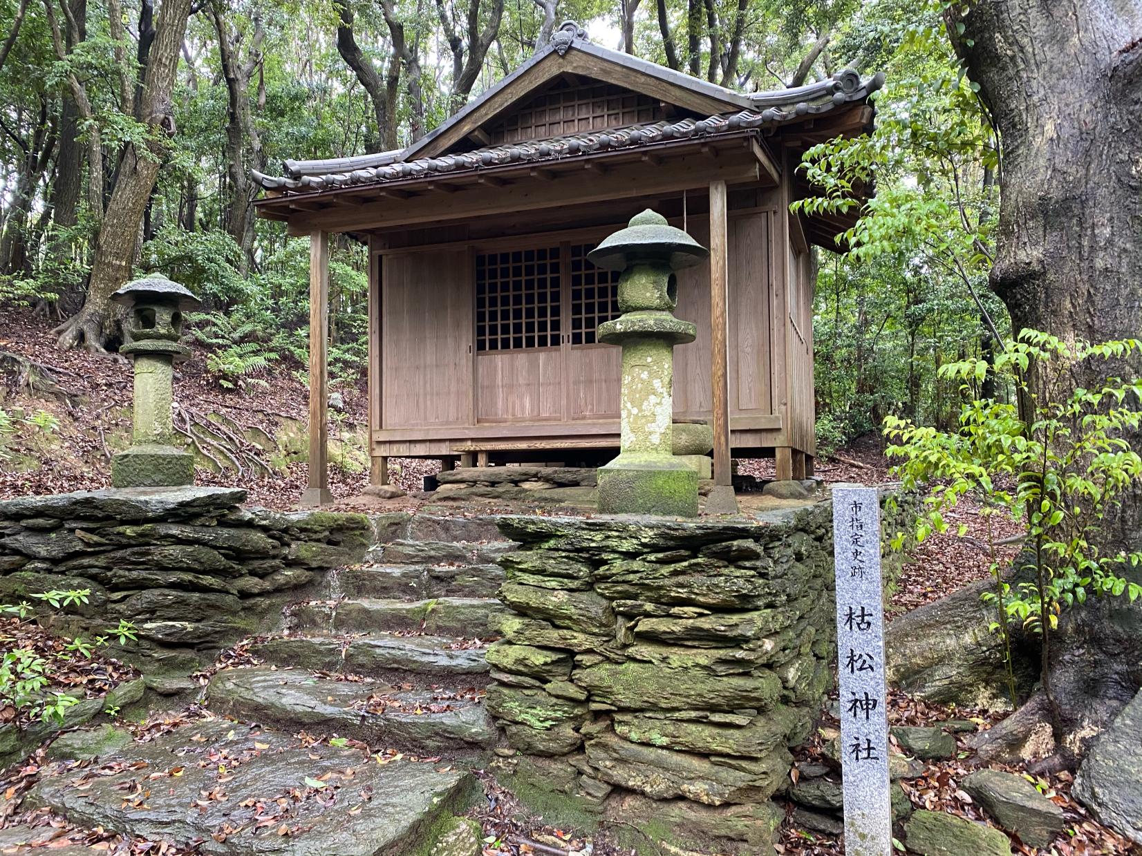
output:
[[[621,270],[622,315],[598,325],[598,340],[622,347],[621,445],[598,470],[604,514],[698,515],[698,473],[674,457],[674,346],[693,341],[697,328],[674,317],[675,272],[709,251],[650,209],[605,239],[587,258]]]

